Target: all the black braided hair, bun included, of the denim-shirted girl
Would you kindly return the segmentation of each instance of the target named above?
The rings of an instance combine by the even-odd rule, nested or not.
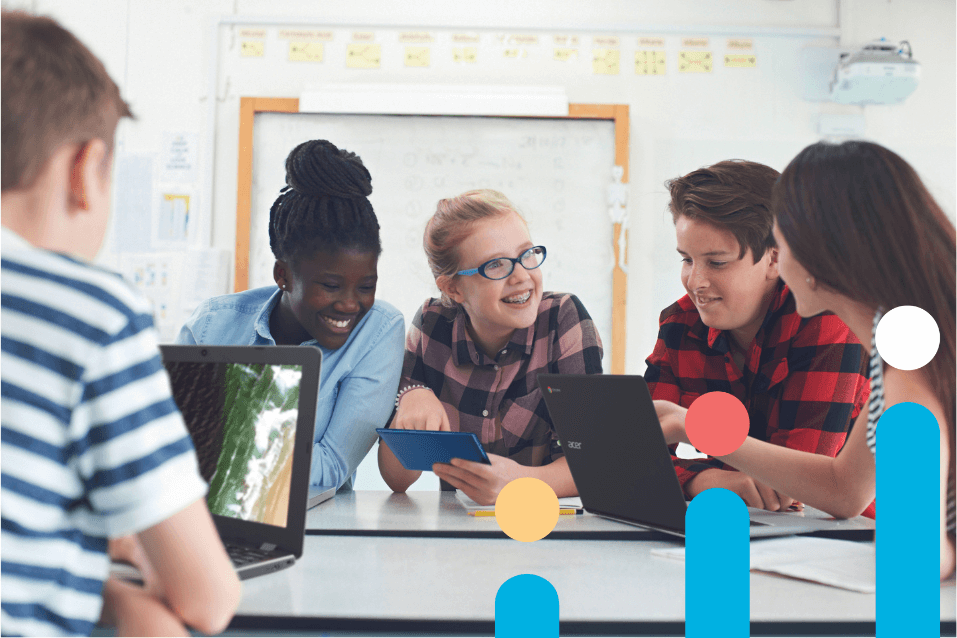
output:
[[[372,176],[355,153],[310,140],[286,158],[286,186],[269,209],[269,246],[296,262],[316,252],[382,252],[379,221],[368,200]]]

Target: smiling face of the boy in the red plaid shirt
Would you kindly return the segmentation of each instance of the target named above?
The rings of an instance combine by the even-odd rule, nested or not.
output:
[[[753,339],[764,321],[765,297],[777,280],[772,251],[757,263],[750,248],[738,258],[740,245],[731,231],[684,215],[675,223],[675,233],[682,262],[681,283],[701,320],[718,330],[747,334],[753,328]]]

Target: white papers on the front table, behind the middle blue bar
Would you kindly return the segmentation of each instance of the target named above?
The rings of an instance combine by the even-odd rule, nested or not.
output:
[[[653,549],[651,553],[673,560],[685,559],[684,547]],[[874,593],[875,564],[873,543],[802,536],[751,543],[752,571],[773,572],[865,594]]]

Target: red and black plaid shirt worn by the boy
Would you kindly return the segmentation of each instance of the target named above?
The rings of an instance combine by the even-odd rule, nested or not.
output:
[[[867,354],[844,322],[830,312],[802,319],[779,282],[744,370],[729,338],[704,325],[688,295],[665,308],[645,360],[652,398],[687,408],[702,394],[727,392],[747,408],[754,438],[836,456],[870,393]],[[713,458],[674,461],[682,486],[708,468],[732,469]]]

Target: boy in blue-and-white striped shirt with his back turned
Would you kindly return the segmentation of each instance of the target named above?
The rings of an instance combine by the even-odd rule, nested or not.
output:
[[[206,508],[148,303],[93,266],[129,108],[48,18],[3,11],[4,635],[222,631],[236,573]],[[135,535],[135,536],[130,536]],[[123,538],[146,587],[109,578]],[[118,546],[122,547],[122,546]]]

